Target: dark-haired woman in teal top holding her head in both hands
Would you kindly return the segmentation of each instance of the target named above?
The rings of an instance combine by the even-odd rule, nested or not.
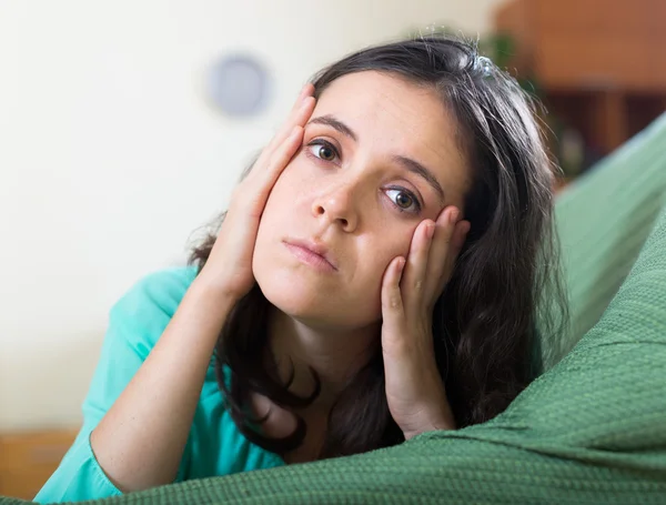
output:
[[[534,377],[537,322],[554,329],[552,188],[526,97],[474,47],[408,40],[323,70],[196,267],[113,307],[83,428],[36,499],[354,454],[501,413]]]

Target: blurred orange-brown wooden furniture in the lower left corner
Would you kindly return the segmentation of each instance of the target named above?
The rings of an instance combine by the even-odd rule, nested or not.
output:
[[[0,495],[32,499],[75,436],[74,430],[0,434]]]

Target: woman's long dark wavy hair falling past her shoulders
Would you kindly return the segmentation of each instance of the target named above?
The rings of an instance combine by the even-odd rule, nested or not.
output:
[[[315,98],[335,79],[362,71],[383,72],[436,91],[457,122],[456,140],[473,171],[464,204],[471,231],[434,307],[434,352],[457,426],[482,423],[503,412],[538,374],[537,327],[555,334],[566,321],[553,219],[554,165],[534,101],[513,78],[481,57],[475,43],[447,36],[350,54],[313,78]],[[215,239],[216,232],[211,232],[193,249],[190,264],[199,271]],[[302,443],[303,420],[285,438],[261,435],[256,426],[262,420],[249,413],[251,393],[297,408],[314,401],[319,386],[310,397],[296,396],[289,391],[291,381],[285,384],[274,366],[266,366],[270,309],[258,285],[238,302],[220,334],[215,366],[241,432],[283,454]],[[319,384],[316,371],[312,373]],[[377,346],[334,404],[320,458],[404,441],[391,417],[384,386]]]

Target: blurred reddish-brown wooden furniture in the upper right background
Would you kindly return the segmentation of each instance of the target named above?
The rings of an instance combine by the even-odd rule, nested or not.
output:
[[[605,155],[666,110],[666,0],[512,0],[509,68]]]

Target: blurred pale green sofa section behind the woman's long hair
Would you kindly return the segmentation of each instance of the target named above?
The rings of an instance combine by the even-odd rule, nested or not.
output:
[[[558,195],[572,329],[542,343],[545,370],[601,317],[666,202],[666,114]]]

